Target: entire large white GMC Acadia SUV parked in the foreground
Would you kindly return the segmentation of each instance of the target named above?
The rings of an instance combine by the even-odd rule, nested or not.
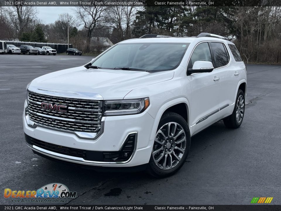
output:
[[[232,42],[144,35],[34,79],[25,139],[44,157],[169,176],[184,164],[191,136],[222,119],[241,125],[245,95],[246,67]]]

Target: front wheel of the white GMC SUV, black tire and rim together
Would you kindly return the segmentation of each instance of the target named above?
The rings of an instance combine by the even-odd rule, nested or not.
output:
[[[162,116],[155,135],[148,173],[155,177],[171,176],[183,166],[190,149],[186,120],[177,113]]]

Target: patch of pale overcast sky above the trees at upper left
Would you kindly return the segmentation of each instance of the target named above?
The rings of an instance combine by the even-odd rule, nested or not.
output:
[[[43,7],[39,6],[37,18],[43,21],[43,23],[54,23],[58,18],[59,14],[61,13],[69,13],[73,15],[73,11],[71,10],[73,7],[68,6],[54,6],[54,7]]]

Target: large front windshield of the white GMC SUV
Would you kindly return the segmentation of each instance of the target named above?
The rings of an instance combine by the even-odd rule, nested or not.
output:
[[[149,72],[179,66],[189,43],[120,43],[92,63],[104,69],[129,67]]]

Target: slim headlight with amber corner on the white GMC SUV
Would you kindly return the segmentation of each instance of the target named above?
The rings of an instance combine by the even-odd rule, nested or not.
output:
[[[104,116],[138,114],[148,108],[149,98],[104,101]]]

